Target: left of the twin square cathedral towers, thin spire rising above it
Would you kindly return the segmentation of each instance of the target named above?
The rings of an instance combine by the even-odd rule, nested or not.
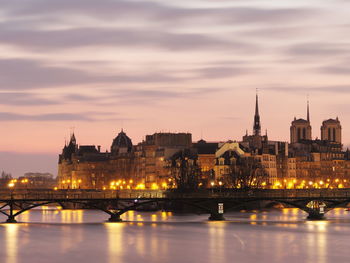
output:
[[[290,126],[290,142],[298,143],[303,140],[312,140],[312,128],[310,124],[310,107],[309,101],[307,102],[307,114],[306,120],[296,119],[292,121]]]

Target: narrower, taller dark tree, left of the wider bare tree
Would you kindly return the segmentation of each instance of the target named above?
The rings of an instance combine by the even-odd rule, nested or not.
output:
[[[189,150],[182,150],[171,158],[171,176],[178,190],[198,188],[200,168],[197,159]]]

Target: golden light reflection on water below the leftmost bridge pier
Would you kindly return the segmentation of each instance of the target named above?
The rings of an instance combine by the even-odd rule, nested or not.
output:
[[[18,224],[4,224],[6,232],[6,263],[17,263]]]

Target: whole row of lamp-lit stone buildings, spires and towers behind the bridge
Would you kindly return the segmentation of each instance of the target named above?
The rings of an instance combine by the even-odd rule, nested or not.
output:
[[[134,145],[122,130],[110,151],[78,145],[74,133],[59,155],[59,188],[143,189],[174,186],[169,161],[179,152],[191,151],[200,168],[203,187],[225,186],[238,158],[253,157],[267,173],[265,187],[347,187],[350,153],[342,149],[338,118],[322,123],[321,139],[312,138],[309,103],[306,119],[294,119],[290,143],[269,140],[261,134],[256,96],[253,133],[241,141],[192,142],[190,133],[155,133]]]

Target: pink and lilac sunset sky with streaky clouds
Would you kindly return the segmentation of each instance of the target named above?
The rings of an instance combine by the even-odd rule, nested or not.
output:
[[[58,154],[155,132],[289,141],[339,117],[350,145],[350,1],[0,0],[0,171],[57,174]]]

